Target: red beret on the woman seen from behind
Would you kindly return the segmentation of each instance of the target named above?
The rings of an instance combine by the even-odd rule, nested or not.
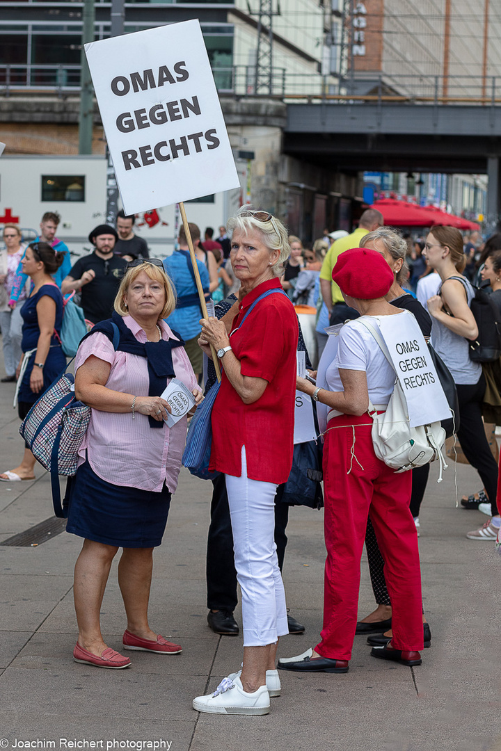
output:
[[[385,258],[370,248],[352,248],[341,253],[332,279],[342,292],[357,300],[385,297],[394,282],[393,271]]]

